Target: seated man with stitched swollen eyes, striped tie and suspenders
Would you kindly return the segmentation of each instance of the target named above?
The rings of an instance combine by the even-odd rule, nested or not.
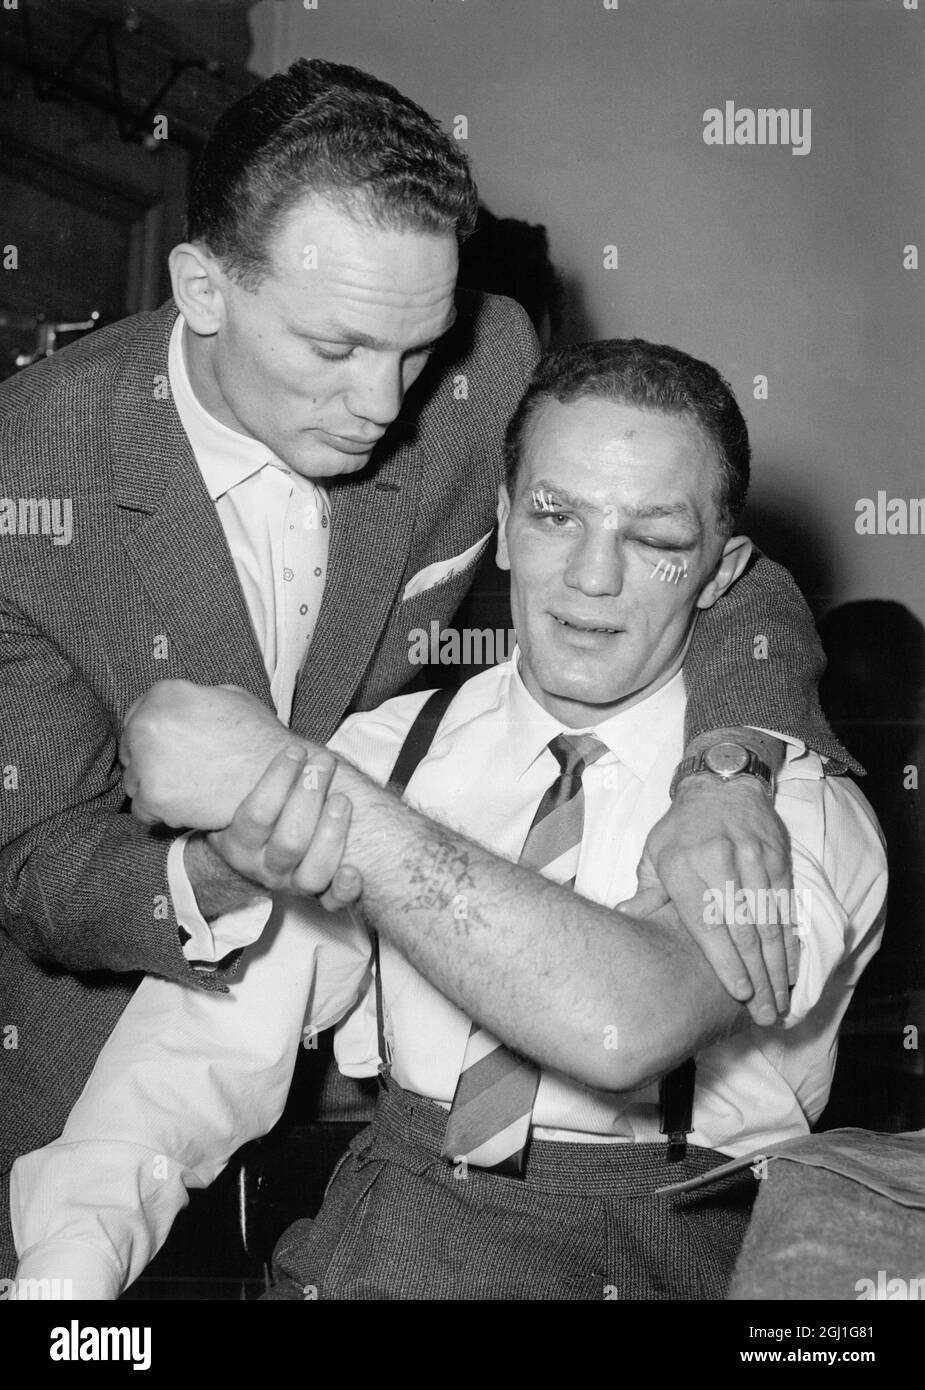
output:
[[[352,912],[306,930],[274,903],[230,997],[146,980],[61,1140],[14,1169],[21,1277],[115,1294],[184,1188],[274,1123],[306,1017],[309,1041],[339,1017],[341,1068],[380,1070],[384,1091],[319,1218],[282,1237],[275,1297],[723,1295],[747,1202],[657,1188],[821,1113],[879,944],[882,840],[854,784],[800,745],[776,788],[734,744],[695,770],[730,795],[758,774],[790,835],[789,902],[753,892],[732,912],[732,883],[704,894],[705,923],[797,923],[789,1011],[758,1026],[665,894],[633,898],[683,749],[697,616],[750,557],[739,407],[675,349],[569,348],[534,375],[506,457],[498,556],[517,652],[463,685],[428,748],[421,694],[351,717],[330,745],[376,979]],[[406,778],[415,744],[401,805],[383,784]],[[245,817],[282,856],[289,788],[327,758],[245,692],[181,682],[149,692],[124,738],[139,816]]]

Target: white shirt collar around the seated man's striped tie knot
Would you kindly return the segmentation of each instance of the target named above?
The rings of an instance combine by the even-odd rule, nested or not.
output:
[[[520,648],[510,657],[510,685],[508,696],[508,738],[515,776],[517,778],[533,766],[551,738],[556,734],[593,733],[622,762],[634,777],[644,781],[658,753],[684,719],[687,692],[684,673],[677,671],[670,681],[652,695],[629,709],[611,714],[601,724],[587,730],[565,728],[530,694],[520,676]],[[609,759],[602,758],[606,764]]]

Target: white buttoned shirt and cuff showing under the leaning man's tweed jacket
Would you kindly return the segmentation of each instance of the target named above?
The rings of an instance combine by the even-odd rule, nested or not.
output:
[[[277,714],[289,723],[295,682],[324,596],[331,506],[324,488],[293,473],[259,439],[216,420],[189,381],[179,316],[167,356],[170,391],[228,542]],[[207,923],[184,867],[189,835],[167,856],[167,885],[188,960],[214,963],[255,941],[270,898]]]

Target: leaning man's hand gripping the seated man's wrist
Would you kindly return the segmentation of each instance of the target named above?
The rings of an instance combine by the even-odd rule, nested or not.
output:
[[[352,805],[342,792],[328,796],[337,762],[321,751],[306,777],[307,751],[284,748],[241,802],[225,830],[206,842],[242,878],[275,892],[320,897],[328,910],[356,901],[359,870],[341,865]]]

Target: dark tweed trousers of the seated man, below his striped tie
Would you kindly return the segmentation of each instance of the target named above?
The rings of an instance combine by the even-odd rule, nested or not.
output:
[[[709,1195],[655,1188],[722,1163],[690,1147],[534,1140],[526,1177],[440,1156],[447,1111],[392,1080],[319,1215],[274,1251],[268,1300],[719,1300],[748,1225],[750,1173]]]

